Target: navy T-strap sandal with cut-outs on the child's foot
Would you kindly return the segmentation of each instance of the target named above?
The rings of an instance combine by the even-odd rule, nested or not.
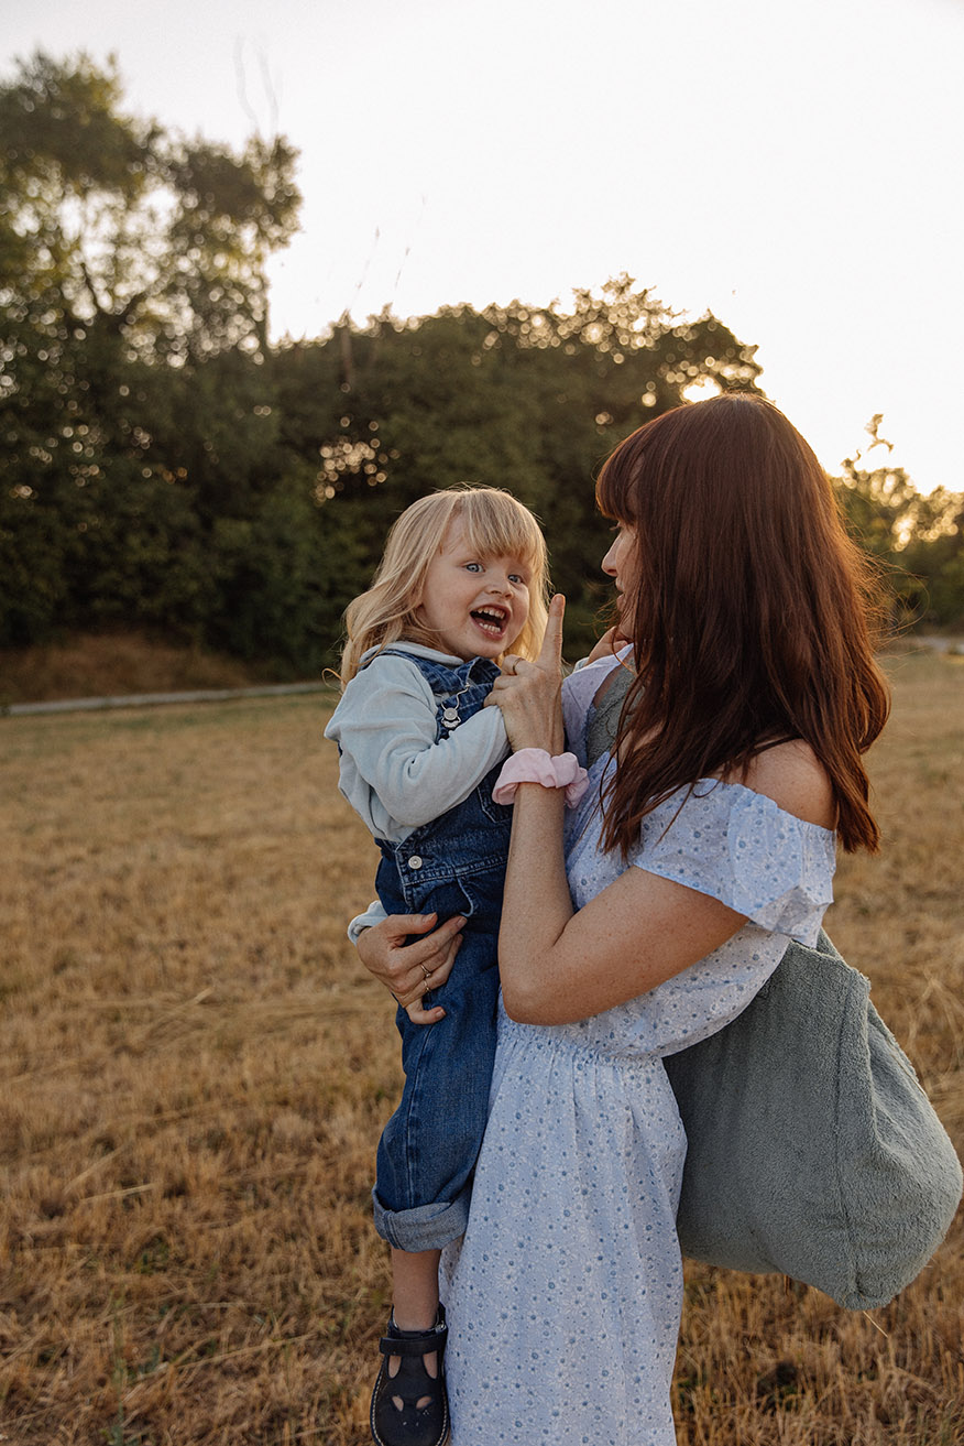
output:
[[[371,1439],[377,1446],[444,1446],[448,1440],[448,1394],[445,1391],[445,1310],[431,1330],[399,1330],[395,1317],[382,1336],[382,1369],[371,1392]],[[422,1356],[438,1353],[438,1375],[429,1375]],[[397,1375],[389,1375],[389,1356],[400,1356]],[[428,1404],[418,1401],[428,1397]],[[402,1408],[395,1404],[402,1401]]]

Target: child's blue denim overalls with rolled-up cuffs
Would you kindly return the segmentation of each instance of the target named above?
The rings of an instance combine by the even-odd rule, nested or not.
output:
[[[436,742],[478,711],[499,677],[487,658],[454,668],[402,656],[438,698]],[[499,917],[512,829],[512,808],[491,801],[500,766],[402,843],[377,840],[376,889],[386,912],[467,918],[452,972],[428,1001],[444,1005],[445,1018],[425,1025],[402,1008],[396,1014],[405,1090],[379,1142],[371,1197],[379,1235],[403,1251],[447,1245],[468,1220],[496,1054]]]

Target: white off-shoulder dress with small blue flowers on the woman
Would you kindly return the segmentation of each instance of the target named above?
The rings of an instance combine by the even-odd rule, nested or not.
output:
[[[601,681],[593,674],[569,680],[577,753],[574,697],[588,703]],[[624,868],[598,843],[608,766],[590,771],[567,823],[577,908]],[[643,820],[630,866],[710,894],[749,923],[684,973],[578,1024],[523,1025],[500,1011],[468,1231],[442,1262],[452,1446],[675,1442],[687,1141],[662,1057],[740,1014],[791,937],[815,941],[834,843],[739,784],[705,779],[673,795]]]

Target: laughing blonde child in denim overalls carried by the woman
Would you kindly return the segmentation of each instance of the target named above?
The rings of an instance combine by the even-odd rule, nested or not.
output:
[[[491,798],[506,730],[484,703],[506,652],[536,656],[546,590],[532,513],[506,492],[451,489],[397,518],[373,586],[345,613],[343,697],[325,736],[338,743],[338,787],[382,850],[380,904],[467,920],[445,1017],[426,1028],[396,1015],[405,1089],[371,1192],[393,1274],[371,1397],[380,1446],[448,1436],[438,1261],[465,1231],[486,1126],[512,823],[512,808]]]

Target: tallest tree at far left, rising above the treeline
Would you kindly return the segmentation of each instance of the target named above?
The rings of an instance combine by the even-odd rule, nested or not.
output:
[[[244,435],[199,377],[234,357],[247,380],[263,360],[295,155],[134,120],[114,68],[82,55],[19,65],[0,132],[0,639],[108,617],[197,633],[215,606],[210,457],[237,461]],[[270,442],[263,415],[246,399]]]

